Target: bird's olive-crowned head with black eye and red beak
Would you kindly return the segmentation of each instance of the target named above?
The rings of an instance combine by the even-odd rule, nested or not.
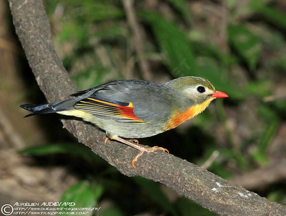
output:
[[[221,91],[216,91],[214,86],[207,79],[186,76],[174,79],[171,82],[173,88],[180,91],[181,94],[190,98],[193,104],[203,104],[207,102],[207,105],[217,97],[228,97],[228,95]]]

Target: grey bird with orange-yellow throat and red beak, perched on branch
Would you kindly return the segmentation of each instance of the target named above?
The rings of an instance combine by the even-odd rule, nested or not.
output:
[[[123,79],[78,91],[66,100],[47,104],[22,104],[36,114],[59,113],[76,116],[106,131],[108,139],[117,140],[139,150],[132,166],[144,152],[169,151],[163,147],[144,147],[138,138],[150,137],[203,112],[217,97],[228,97],[215,90],[210,81],[185,76],[166,83]]]

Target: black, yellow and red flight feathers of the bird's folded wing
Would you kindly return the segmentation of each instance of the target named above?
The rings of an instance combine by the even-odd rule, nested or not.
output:
[[[91,95],[74,104],[75,109],[92,113],[93,115],[111,119],[120,123],[146,123],[133,113],[133,104],[120,102],[99,95]]]

